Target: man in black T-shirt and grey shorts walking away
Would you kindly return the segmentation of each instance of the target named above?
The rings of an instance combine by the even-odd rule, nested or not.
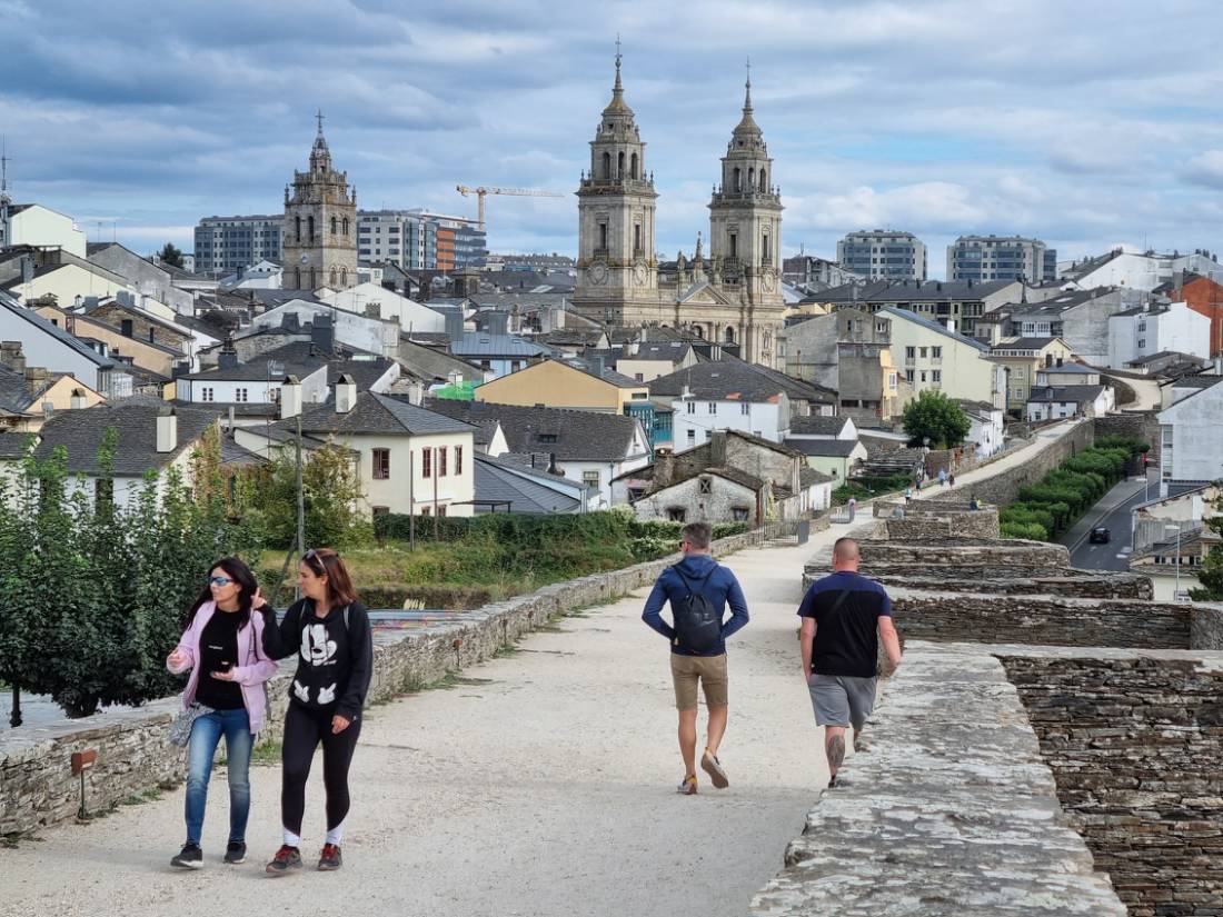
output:
[[[857,542],[838,538],[834,572],[813,582],[799,605],[802,676],[816,725],[824,727],[829,786],[845,759],[845,729],[852,725],[856,738],[874,709],[879,637],[893,668],[900,665],[892,600],[879,583],[859,575],[860,559]]]

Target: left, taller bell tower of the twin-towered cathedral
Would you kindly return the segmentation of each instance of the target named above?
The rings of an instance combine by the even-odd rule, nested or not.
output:
[[[577,282],[574,307],[603,324],[632,324],[658,314],[653,176],[646,144],[620,83],[616,43],[612,101],[591,141],[591,168],[577,191]]]

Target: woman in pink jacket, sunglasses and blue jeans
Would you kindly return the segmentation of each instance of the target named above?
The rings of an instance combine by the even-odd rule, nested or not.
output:
[[[186,631],[166,659],[175,672],[191,671],[182,692],[183,710],[207,708],[191,726],[187,746],[187,842],[170,863],[203,866],[199,836],[208,802],[208,779],[221,736],[230,785],[230,835],[226,863],[246,860],[246,819],[251,812],[251,748],[268,705],[264,682],[278,664],[262,652],[264,604],[251,569],[237,558],[213,566],[208,586],[186,617]]]

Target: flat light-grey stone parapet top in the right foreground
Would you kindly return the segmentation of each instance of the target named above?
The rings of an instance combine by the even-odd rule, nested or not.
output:
[[[750,913],[1125,917],[982,648],[910,643],[841,775]]]

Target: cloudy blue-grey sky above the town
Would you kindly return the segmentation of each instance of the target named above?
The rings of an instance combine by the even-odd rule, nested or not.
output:
[[[618,32],[668,254],[708,225],[748,55],[788,253],[878,226],[936,276],[961,232],[1223,249],[1223,29],[1196,0],[0,0],[0,133],[18,201],[190,249],[201,216],[280,210],[322,108],[361,207],[565,192],[489,198],[489,246],[572,253]]]

